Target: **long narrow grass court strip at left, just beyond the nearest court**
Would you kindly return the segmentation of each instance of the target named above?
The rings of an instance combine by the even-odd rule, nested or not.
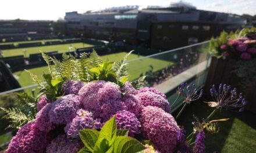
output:
[[[86,47],[93,46],[87,43],[79,42],[79,43],[67,43],[67,44],[61,44],[61,45],[37,46],[37,47],[31,47],[31,48],[6,49],[6,50],[3,50],[3,57],[24,55],[24,52],[23,52],[24,49],[27,50],[26,52],[27,57],[29,57],[29,54],[40,53],[40,50],[43,52],[58,50],[59,53],[63,53],[69,50],[70,45],[73,46],[73,49],[86,48]]]

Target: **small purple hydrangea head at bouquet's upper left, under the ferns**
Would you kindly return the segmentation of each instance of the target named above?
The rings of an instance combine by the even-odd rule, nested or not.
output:
[[[78,94],[84,85],[84,82],[70,80],[63,84],[62,90],[65,94]]]

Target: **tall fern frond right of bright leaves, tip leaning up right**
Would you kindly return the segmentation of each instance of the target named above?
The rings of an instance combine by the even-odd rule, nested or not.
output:
[[[117,78],[121,78],[123,76],[128,75],[128,68],[127,68],[127,57],[133,52],[134,50],[131,50],[131,52],[127,53],[125,57],[123,57],[122,60],[115,62],[112,66],[112,70],[116,73]]]

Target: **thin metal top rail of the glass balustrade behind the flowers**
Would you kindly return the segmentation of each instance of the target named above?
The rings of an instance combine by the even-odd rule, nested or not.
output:
[[[166,50],[165,52],[156,53],[156,54],[151,54],[151,55],[149,55],[149,56],[140,57],[140,58],[137,58],[137,59],[129,60],[129,61],[127,61],[127,62],[130,63],[130,62],[132,62],[132,61],[143,60],[143,59],[147,59],[147,58],[149,58],[149,57],[158,56],[158,55],[160,55],[160,54],[166,54],[166,53],[170,53],[170,52],[175,52],[175,51],[177,51],[177,50],[182,50],[182,49],[186,49],[186,48],[191,48],[191,47],[193,47],[193,46],[203,45],[203,44],[206,44],[206,43],[209,43],[209,41],[204,41],[204,42],[200,42],[200,43],[195,43],[195,44],[193,44],[193,45],[183,46],[183,47],[181,47],[181,48]],[[43,83],[46,83],[46,82],[43,82]],[[33,88],[33,87],[36,87],[36,86],[38,86],[38,85],[37,85],[37,84],[33,84],[33,85],[29,85],[29,86],[24,86],[24,87],[22,87],[22,88],[16,88],[16,89],[8,90],[8,91],[6,91],[6,92],[1,92],[1,93],[0,93],[0,96],[3,95],[3,94],[18,92],[18,91],[20,91],[20,90],[25,90],[25,89],[28,89],[28,88]]]

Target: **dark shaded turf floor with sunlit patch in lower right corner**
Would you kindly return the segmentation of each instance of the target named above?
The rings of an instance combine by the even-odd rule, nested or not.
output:
[[[211,112],[212,109],[206,104],[196,101],[185,108],[183,114],[179,117],[177,122],[179,125],[184,125],[186,127],[188,135],[192,130],[192,114],[195,114],[199,118],[206,118]],[[176,116],[176,114],[174,116]],[[256,114],[248,111],[237,113],[223,110],[222,112],[217,112],[212,119],[221,118],[230,119],[229,121],[219,123],[219,133],[206,134],[205,152],[255,152]]]

